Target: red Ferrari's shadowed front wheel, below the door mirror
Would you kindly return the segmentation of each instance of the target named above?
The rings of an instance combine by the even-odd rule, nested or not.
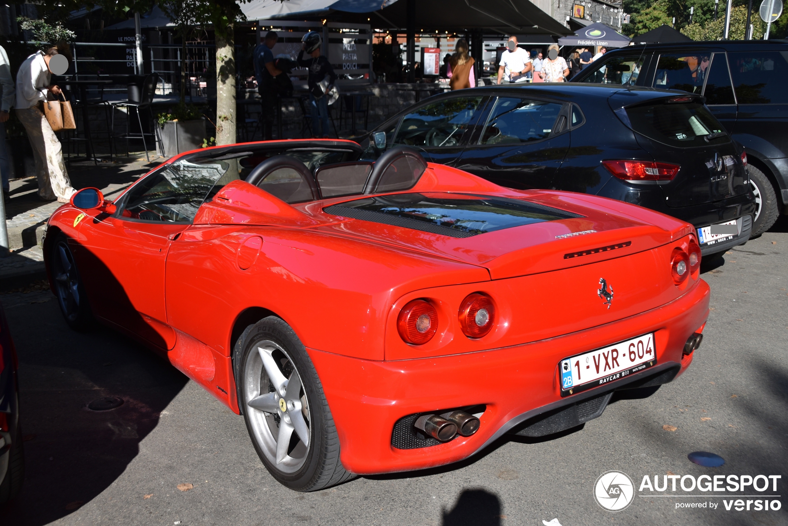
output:
[[[54,278],[55,295],[65,323],[74,330],[85,330],[93,324],[93,313],[87,303],[80,270],[69,248],[69,238],[64,233],[55,237],[50,250],[50,270]]]

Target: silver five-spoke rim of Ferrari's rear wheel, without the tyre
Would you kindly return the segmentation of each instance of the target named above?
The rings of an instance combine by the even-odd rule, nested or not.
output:
[[[244,367],[243,397],[251,431],[267,460],[292,473],[307,460],[310,412],[303,382],[288,354],[274,341],[258,341]]]

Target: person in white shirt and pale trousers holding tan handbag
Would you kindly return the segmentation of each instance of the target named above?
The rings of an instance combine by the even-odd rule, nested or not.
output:
[[[63,151],[58,136],[52,131],[43,112],[46,96],[60,95],[58,86],[50,85],[49,63],[58,48],[37,51],[22,62],[17,73],[17,118],[28,132],[35,158],[35,177],[39,182],[39,198],[68,203],[74,193],[65,170]]]

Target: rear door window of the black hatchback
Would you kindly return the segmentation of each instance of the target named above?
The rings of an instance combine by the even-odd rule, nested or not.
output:
[[[563,105],[499,97],[492,106],[479,144],[522,144],[547,138]]]

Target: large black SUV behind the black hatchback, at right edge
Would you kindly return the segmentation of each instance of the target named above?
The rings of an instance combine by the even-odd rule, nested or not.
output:
[[[788,43],[785,40],[630,46],[604,54],[572,82],[671,88],[706,98],[747,151],[758,207],[753,235],[788,214]]]

